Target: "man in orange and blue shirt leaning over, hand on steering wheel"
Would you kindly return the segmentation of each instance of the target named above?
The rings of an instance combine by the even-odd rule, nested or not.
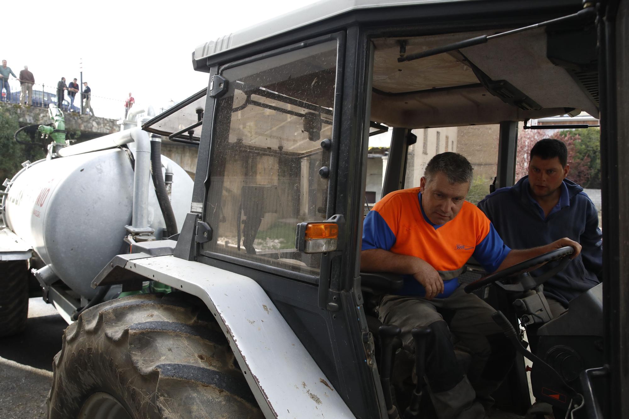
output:
[[[562,238],[535,249],[512,250],[465,197],[472,166],[446,152],[426,166],[418,188],[387,194],[364,221],[360,270],[404,275],[404,287],[382,298],[383,323],[402,329],[403,347],[414,352],[411,330],[430,326],[426,377],[440,419],[482,418],[491,393],[509,371],[514,350],[491,319],[494,309],[458,281],[474,256],[487,272],[572,246]],[[472,355],[467,376],[454,354],[452,335]]]

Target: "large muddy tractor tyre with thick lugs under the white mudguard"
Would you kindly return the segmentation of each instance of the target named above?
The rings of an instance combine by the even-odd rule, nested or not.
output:
[[[229,344],[189,294],[98,304],[64,332],[48,418],[262,418]]]

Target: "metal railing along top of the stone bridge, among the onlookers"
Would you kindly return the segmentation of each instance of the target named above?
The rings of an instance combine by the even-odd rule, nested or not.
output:
[[[9,89],[11,90],[11,94],[8,98],[6,89],[4,89],[4,87],[3,89],[1,89],[0,101],[14,104],[23,104],[23,101],[20,101],[21,85],[19,84],[19,81],[15,79],[9,79]],[[75,94],[74,103],[70,108],[71,101],[69,97],[69,91],[64,91],[64,99],[61,103],[62,111],[81,113],[82,96],[82,87],[79,86],[79,92]],[[118,119],[124,115],[125,101],[123,100],[105,98],[103,96],[96,96],[91,94],[90,101],[92,109],[94,109],[94,114],[96,114],[97,116]],[[42,83],[33,84],[33,98],[31,102],[31,106],[36,106],[38,108],[48,108],[48,105],[51,103],[58,105],[57,86]],[[83,109],[83,114],[89,115],[89,109]]]

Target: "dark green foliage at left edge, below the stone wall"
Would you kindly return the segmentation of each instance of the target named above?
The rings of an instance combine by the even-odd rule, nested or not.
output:
[[[26,147],[13,139],[18,129],[18,115],[14,109],[0,108],[0,183],[6,178],[11,179],[22,168],[21,164],[25,160],[35,161],[44,157],[38,145]],[[24,132],[19,133],[18,138],[30,142],[30,138]]]

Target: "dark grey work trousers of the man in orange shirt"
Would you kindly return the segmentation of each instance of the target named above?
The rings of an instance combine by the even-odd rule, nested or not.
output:
[[[448,298],[382,298],[379,318],[401,328],[403,350],[415,352],[413,328],[430,326],[433,331],[426,341],[425,371],[440,419],[482,418],[480,401],[491,401],[491,393],[511,368],[515,350],[491,319],[495,311],[475,294],[465,293],[464,286]],[[455,356],[453,340],[457,349],[471,355],[467,376]]]

